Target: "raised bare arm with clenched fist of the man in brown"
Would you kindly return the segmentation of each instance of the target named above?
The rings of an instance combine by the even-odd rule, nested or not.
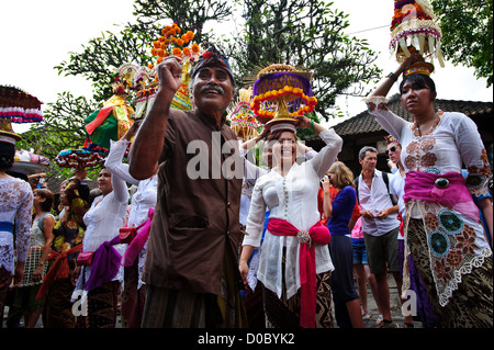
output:
[[[180,61],[180,58],[170,56],[158,66],[159,89],[128,155],[128,171],[136,180],[148,179],[158,170],[171,101],[181,84]]]

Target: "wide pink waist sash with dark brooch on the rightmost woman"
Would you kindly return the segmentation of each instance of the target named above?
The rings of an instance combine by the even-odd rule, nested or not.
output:
[[[405,178],[405,202],[419,200],[439,203],[479,221],[479,208],[465,185],[461,173],[451,171],[435,174],[422,171],[411,171]]]

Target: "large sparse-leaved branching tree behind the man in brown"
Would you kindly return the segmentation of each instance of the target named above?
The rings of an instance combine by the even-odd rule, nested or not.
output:
[[[215,34],[239,9],[245,25],[228,37]],[[165,25],[173,22],[183,30],[192,30],[194,42],[202,46],[214,43],[224,48],[239,82],[257,68],[272,63],[312,70],[313,90],[318,99],[317,116],[312,117],[316,120],[330,117],[338,94],[362,95],[359,83],[380,75],[372,65],[374,53],[364,41],[345,35],[349,25],[347,15],[334,10],[330,2],[135,0],[134,15],[134,23],[117,27],[116,33],[101,33],[82,45],[80,52],[68,53],[69,57],[55,67],[59,75],[91,81],[92,99],[60,93],[55,103],[48,103],[42,124],[26,134],[24,148],[34,148],[53,160],[63,149],[81,147],[86,137],[83,120],[113,94],[111,84],[116,69],[125,63],[143,66],[153,63],[153,41]],[[213,30],[205,32],[205,26]]]

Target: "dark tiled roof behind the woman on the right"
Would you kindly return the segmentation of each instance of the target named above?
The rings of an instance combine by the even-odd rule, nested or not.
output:
[[[445,112],[461,112],[472,120],[475,120],[478,115],[492,114],[492,102],[474,102],[474,101],[456,101],[456,100],[436,100],[436,109]],[[395,114],[402,116],[406,121],[411,122],[412,116],[405,111],[400,95],[395,94],[388,103],[390,109]],[[357,138],[360,135],[369,135],[372,133],[381,133],[383,128],[375,122],[374,117],[367,111],[357,114],[356,116],[346,120],[334,126],[335,132],[341,137]]]

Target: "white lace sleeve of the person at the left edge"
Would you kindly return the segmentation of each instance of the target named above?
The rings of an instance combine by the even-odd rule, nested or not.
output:
[[[25,261],[31,237],[33,191],[27,182],[18,182],[16,185],[20,194],[20,205],[15,214],[15,250],[18,260]]]

